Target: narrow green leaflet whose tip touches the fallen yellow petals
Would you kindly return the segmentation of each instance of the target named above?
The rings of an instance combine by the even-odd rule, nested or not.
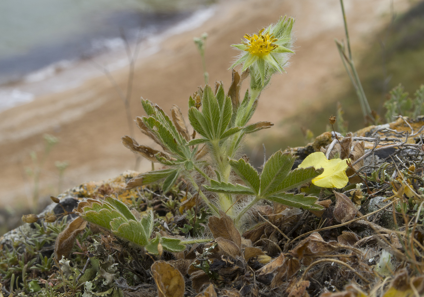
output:
[[[315,169],[314,167],[296,168],[289,172],[283,180],[273,183],[265,193],[261,193],[262,197],[297,188],[304,183],[310,182],[312,178],[317,177],[323,171],[324,169]]]

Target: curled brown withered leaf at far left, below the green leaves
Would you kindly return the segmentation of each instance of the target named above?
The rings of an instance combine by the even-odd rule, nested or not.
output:
[[[62,256],[67,257],[69,255],[74,245],[75,237],[85,229],[86,225],[86,220],[76,217],[66,226],[65,230],[59,233],[54,247],[54,255],[58,261]]]

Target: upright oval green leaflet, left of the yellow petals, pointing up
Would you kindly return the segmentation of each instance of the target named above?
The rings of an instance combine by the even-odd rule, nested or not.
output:
[[[266,161],[261,173],[261,196],[268,193],[268,189],[276,188],[290,172],[294,157],[281,150],[275,152]]]

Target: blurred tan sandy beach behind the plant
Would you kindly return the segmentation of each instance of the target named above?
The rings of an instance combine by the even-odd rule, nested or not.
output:
[[[393,8],[399,13],[413,3],[394,0]],[[360,58],[374,33],[389,21],[391,1],[346,0],[345,6],[354,58]],[[188,97],[197,86],[204,84],[201,58],[192,42],[193,37],[208,33],[206,68],[209,82],[223,80],[228,88],[231,72],[227,69],[237,54],[229,45],[240,42],[245,33],[256,32],[285,14],[296,18],[296,54],[287,74],[276,75],[262,93],[253,119],[276,125],[261,135],[250,136],[248,142],[254,147],[263,136],[286,133],[285,127],[279,125],[282,119],[299,110],[313,113],[315,108],[349,86],[334,43],[334,38],[344,39],[338,0],[219,1],[213,8],[213,16],[201,27],[168,37],[156,44],[159,50],[151,56],[143,58],[140,55],[131,93],[132,118],[143,115],[140,97],[157,103],[165,111],[173,104],[179,105],[183,113],[187,111]],[[119,86],[126,87],[127,67],[114,70],[112,75]],[[247,86],[245,83],[243,89]],[[139,143],[153,146],[135,125],[133,127]],[[44,133],[60,140],[42,170],[40,185],[44,201],[59,191],[55,161],[70,164],[64,171],[61,190],[134,169],[135,157],[120,141],[123,135],[129,134],[123,102],[111,82],[99,71],[97,77],[72,89],[43,94],[30,103],[0,113],[0,208],[30,205],[33,185],[25,167],[32,166],[31,151],[41,156]],[[148,161],[142,160],[138,170],[146,171],[150,166]]]

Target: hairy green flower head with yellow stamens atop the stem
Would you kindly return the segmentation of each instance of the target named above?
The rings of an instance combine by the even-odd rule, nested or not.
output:
[[[284,72],[289,53],[294,53],[292,28],[294,19],[281,17],[279,22],[263,28],[259,33],[245,34],[241,44],[233,44],[242,50],[231,68],[242,65],[242,71],[249,68],[251,78],[263,87],[275,72]]]

